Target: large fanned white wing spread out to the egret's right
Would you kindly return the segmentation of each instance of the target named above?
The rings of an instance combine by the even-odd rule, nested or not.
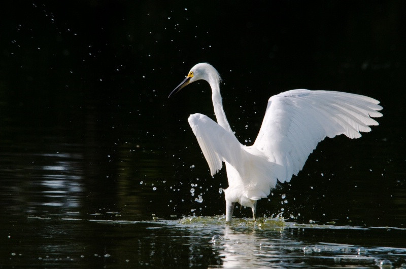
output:
[[[253,147],[275,163],[276,176],[289,182],[326,136],[361,137],[382,117],[382,106],[370,97],[333,91],[291,90],[268,100]]]

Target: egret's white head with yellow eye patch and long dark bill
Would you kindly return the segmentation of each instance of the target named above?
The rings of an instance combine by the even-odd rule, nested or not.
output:
[[[181,84],[179,84],[179,86],[176,87],[175,90],[172,91],[172,93],[168,96],[168,98],[172,97],[174,94],[179,92],[183,87],[185,87],[189,83],[198,80],[205,80],[210,84],[212,82],[217,84],[221,82],[220,74],[212,65],[208,63],[198,63],[195,66],[193,66],[192,69],[190,69],[185,80]]]

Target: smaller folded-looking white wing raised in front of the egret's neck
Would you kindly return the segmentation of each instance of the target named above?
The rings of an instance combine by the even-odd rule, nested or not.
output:
[[[222,162],[242,167],[242,145],[233,133],[203,114],[192,114],[188,121],[212,175],[222,168]]]

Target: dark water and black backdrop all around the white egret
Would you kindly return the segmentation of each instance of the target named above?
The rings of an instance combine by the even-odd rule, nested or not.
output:
[[[406,267],[405,4],[344,3],[6,4],[0,267]],[[213,116],[210,88],[167,99],[202,61],[244,144],[295,88],[368,95],[384,117],[227,225],[226,173],[187,123]]]

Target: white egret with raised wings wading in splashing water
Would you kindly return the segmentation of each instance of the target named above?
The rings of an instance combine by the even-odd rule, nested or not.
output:
[[[195,113],[188,118],[213,176],[225,163],[228,188],[224,189],[226,221],[230,222],[235,203],[252,208],[266,198],[277,180],[289,182],[303,168],[310,153],[325,137],[344,134],[361,137],[369,126],[378,125],[372,117],[382,117],[379,101],[335,91],[290,90],[269,98],[261,128],[251,146],[242,145],[225,117],[220,95],[221,78],[208,63],[198,63],[170,98],[186,85],[205,80],[212,88],[217,123]]]

